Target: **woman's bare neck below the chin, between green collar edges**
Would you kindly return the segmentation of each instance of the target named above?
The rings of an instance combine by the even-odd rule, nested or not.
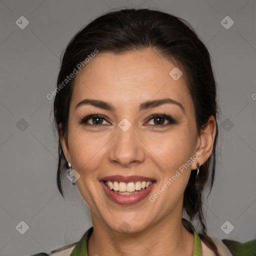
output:
[[[168,216],[143,231],[120,233],[92,216],[93,232],[88,241],[88,256],[192,255],[193,234],[182,225],[181,217]]]

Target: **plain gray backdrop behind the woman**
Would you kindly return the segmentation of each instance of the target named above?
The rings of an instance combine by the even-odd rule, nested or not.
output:
[[[214,239],[255,238],[255,5],[255,0],[0,0],[0,255],[49,252],[77,241],[91,225],[76,186],[66,178],[66,200],[57,191],[53,100],[46,94],[55,88],[59,56],[70,37],[122,6],[180,16],[209,48],[222,110],[222,161],[219,157],[205,205],[208,232]],[[29,21],[24,29],[15,23],[22,15]],[[220,23],[226,15],[234,21],[229,29]],[[24,234],[15,228],[21,220],[29,226]],[[226,220],[234,226],[229,234],[220,228]],[[230,228],[228,223],[225,229]]]

